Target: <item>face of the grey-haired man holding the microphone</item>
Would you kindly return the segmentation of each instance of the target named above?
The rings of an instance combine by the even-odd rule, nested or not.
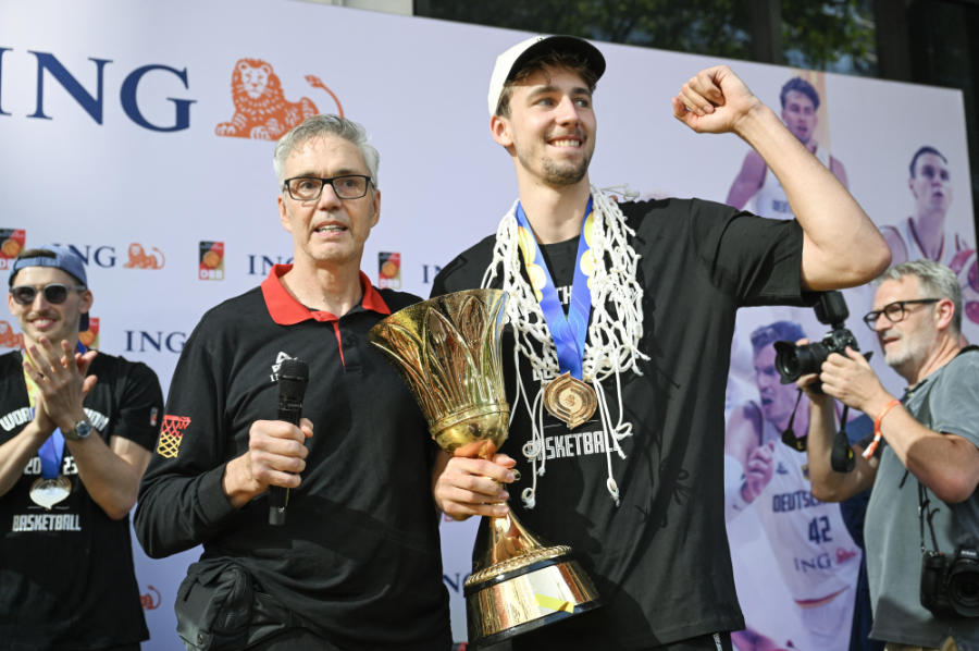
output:
[[[357,146],[339,136],[307,140],[285,160],[283,177],[343,174],[370,175]],[[288,193],[278,195],[283,228],[293,235],[293,258],[297,267],[360,268],[363,243],[381,214],[381,192],[373,184],[359,199],[340,199],[330,184],[319,199],[300,201]]]

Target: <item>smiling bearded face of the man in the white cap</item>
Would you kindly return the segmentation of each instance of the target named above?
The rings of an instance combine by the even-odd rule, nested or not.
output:
[[[552,187],[587,182],[596,122],[579,74],[553,66],[532,73],[513,85],[509,116],[494,115],[490,127],[516,157],[519,177]]]

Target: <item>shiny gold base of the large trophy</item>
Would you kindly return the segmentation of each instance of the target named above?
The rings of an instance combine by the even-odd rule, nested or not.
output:
[[[592,611],[602,602],[571,548],[540,548],[466,580],[469,642],[493,644]]]

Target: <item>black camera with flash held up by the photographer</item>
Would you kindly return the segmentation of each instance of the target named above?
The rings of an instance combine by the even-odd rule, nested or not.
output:
[[[832,353],[846,355],[846,346],[859,351],[856,337],[844,322],[850,316],[846,300],[840,292],[823,292],[816,305],[816,318],[832,327],[822,341],[797,346],[795,342],[776,342],[776,370],[782,384],[795,382],[808,373],[818,373],[822,363]],[[817,383],[817,389],[818,389]]]

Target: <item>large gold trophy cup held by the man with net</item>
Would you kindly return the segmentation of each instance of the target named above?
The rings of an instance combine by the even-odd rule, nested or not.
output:
[[[469,290],[401,309],[368,337],[411,388],[435,442],[455,456],[491,458],[510,407],[500,363],[506,293]],[[490,518],[464,595],[469,641],[494,643],[598,605],[571,548],[547,545],[512,515]]]

